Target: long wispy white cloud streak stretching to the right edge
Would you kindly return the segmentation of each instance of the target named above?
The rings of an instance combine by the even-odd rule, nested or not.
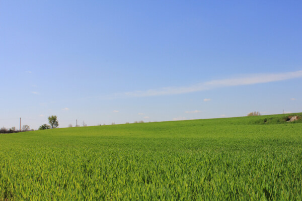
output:
[[[282,81],[282,80],[294,79],[300,77],[302,77],[302,70],[295,71],[295,72],[284,72],[284,73],[250,74],[250,75],[244,75],[235,78],[212,80],[212,81],[197,83],[191,86],[163,87],[158,89],[148,89],[144,91],[115,93],[113,94],[113,97],[115,98],[146,97],[146,96],[157,96],[157,95],[182,94],[182,93],[209,90],[213,88],[268,83],[268,82]]]

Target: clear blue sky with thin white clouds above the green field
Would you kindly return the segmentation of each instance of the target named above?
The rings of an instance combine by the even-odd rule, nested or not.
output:
[[[299,1],[1,1],[0,127],[302,112]]]

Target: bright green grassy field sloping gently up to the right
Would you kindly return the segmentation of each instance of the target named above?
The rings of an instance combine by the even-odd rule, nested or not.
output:
[[[0,200],[301,200],[287,116],[2,134]]]

